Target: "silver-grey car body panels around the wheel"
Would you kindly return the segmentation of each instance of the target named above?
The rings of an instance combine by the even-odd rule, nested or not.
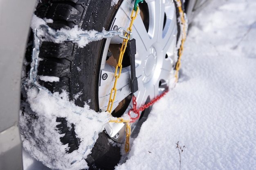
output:
[[[206,1],[189,1],[189,22]],[[20,77],[35,4],[36,0],[0,0],[0,170],[23,169],[18,126]]]

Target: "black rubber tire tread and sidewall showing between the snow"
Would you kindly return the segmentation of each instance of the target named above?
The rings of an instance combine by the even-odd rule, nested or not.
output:
[[[118,7],[119,4],[111,7],[111,0],[42,0],[38,3],[35,14],[40,18],[52,19],[53,23],[48,26],[55,30],[70,29],[79,25],[83,30],[94,29],[101,32],[103,27],[106,30],[110,28]],[[88,102],[91,109],[99,111],[98,78],[105,42],[104,39],[93,41],[84,48],[78,48],[77,44],[72,42],[43,42],[39,53],[43,60],[38,65],[38,76],[56,76],[60,81],[39,83],[51,92],[62,92],[64,89],[69,92],[70,100],[74,100],[76,105],[83,107],[84,102]],[[26,59],[31,61],[31,46],[27,48]],[[27,67],[27,73],[28,70]],[[81,92],[82,95],[75,99],[74,96]],[[22,101],[25,102],[26,96],[22,94]],[[31,109],[23,110],[33,114]],[[61,142],[68,144],[68,153],[71,153],[79,147],[80,142],[76,138],[75,125],[72,124],[72,129],[69,130],[65,118],[57,118],[56,122],[60,122],[57,128],[65,134]],[[108,137],[101,133],[87,162],[90,169],[114,169],[119,159],[120,148],[108,144]]]

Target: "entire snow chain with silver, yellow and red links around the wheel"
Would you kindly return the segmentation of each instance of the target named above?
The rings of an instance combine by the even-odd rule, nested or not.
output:
[[[180,49],[179,49],[179,52],[178,52],[179,58],[178,58],[176,68],[175,68],[175,70],[176,70],[175,78],[176,78],[176,82],[177,82],[177,79],[178,79],[177,75],[178,75],[178,72],[180,70],[180,58],[181,58],[182,53],[183,53],[183,44],[184,44],[184,41],[186,39],[186,21],[184,19],[184,12],[182,11],[181,1],[180,0],[175,0],[175,1],[177,3],[178,9],[179,9],[180,18],[181,18],[181,22],[182,22],[181,24],[183,25],[183,30],[182,30],[182,35],[181,35],[182,36],[182,41],[181,41],[181,46],[180,46]],[[63,37],[63,36],[66,37],[66,39],[64,41],[79,41],[79,40],[81,40],[81,37],[85,37],[88,40],[97,41],[97,40],[100,40],[100,39],[103,39],[103,38],[110,38],[110,37],[117,36],[117,35],[124,39],[124,41],[122,43],[122,46],[121,46],[121,50],[120,50],[119,60],[118,60],[118,63],[116,65],[116,69],[115,69],[115,83],[114,83],[114,87],[111,89],[111,92],[110,92],[110,99],[109,99],[109,102],[108,102],[107,111],[110,114],[110,118],[112,118],[112,120],[110,120],[109,122],[126,123],[126,144],[125,144],[126,153],[129,151],[129,139],[130,139],[130,133],[131,133],[130,123],[135,122],[139,118],[139,116],[140,116],[139,112],[140,111],[144,111],[144,109],[153,105],[157,100],[162,98],[168,92],[168,89],[167,89],[164,93],[157,96],[155,99],[151,100],[148,104],[144,105],[143,107],[140,107],[139,109],[137,109],[136,97],[133,94],[133,96],[132,96],[133,108],[130,109],[130,111],[128,112],[128,115],[130,116],[130,112],[132,111],[135,114],[137,114],[136,118],[132,118],[130,116],[130,120],[124,120],[123,118],[113,118],[111,116],[112,105],[115,101],[115,96],[116,96],[116,92],[117,92],[117,89],[116,89],[117,79],[121,75],[122,60],[123,60],[123,57],[124,57],[124,52],[126,51],[128,40],[131,37],[132,24],[133,24],[135,18],[137,17],[137,14],[138,14],[138,11],[139,11],[138,10],[139,6],[137,5],[139,2],[143,2],[143,0],[135,0],[135,5],[134,5],[134,8],[132,9],[132,13],[131,13],[130,26],[127,30],[121,27],[121,28],[119,28],[118,31],[106,31],[106,32],[96,33],[94,35],[94,37],[90,37],[89,34],[80,34],[80,35],[78,35],[78,37],[70,37],[70,35],[67,35],[67,34],[61,33],[61,32],[57,32],[57,31],[53,30],[52,28],[50,28],[47,25],[41,25],[40,28],[39,28],[39,29],[42,29],[42,30],[45,29],[46,33],[49,36],[54,37],[55,39],[58,39],[58,38]],[[135,12],[135,15],[134,15],[134,12]],[[32,63],[31,63],[31,70],[29,72],[29,80],[30,80],[30,83],[33,86],[37,87],[38,89],[46,89],[45,87],[39,85],[39,83],[36,81],[37,76],[38,76],[37,75],[38,54],[40,52],[40,37],[37,36],[37,31],[39,29],[35,28],[35,30],[34,30],[34,48],[33,48],[33,52],[32,52]],[[118,69],[119,69],[119,72],[118,72]],[[117,72],[118,72],[118,74],[117,74]],[[48,90],[48,89],[46,89],[46,90]],[[49,90],[48,90],[48,92],[49,92]]]

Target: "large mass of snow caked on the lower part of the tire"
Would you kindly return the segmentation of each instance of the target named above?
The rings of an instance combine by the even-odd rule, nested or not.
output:
[[[109,120],[107,112],[97,113],[88,105],[78,107],[70,102],[67,92],[50,94],[36,87],[27,90],[27,101],[35,115],[20,114],[20,131],[23,148],[45,166],[52,169],[79,170],[88,168],[84,158],[91,153],[95,140],[104,124]],[[31,113],[31,111],[29,112]],[[56,118],[65,118],[74,124],[76,137],[80,139],[79,148],[67,153],[68,144],[63,145]]]

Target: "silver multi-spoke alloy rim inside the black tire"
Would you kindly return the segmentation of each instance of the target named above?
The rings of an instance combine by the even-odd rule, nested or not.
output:
[[[110,30],[118,27],[128,28],[133,4],[124,0],[119,7]],[[177,20],[175,4],[145,0],[139,4],[140,15],[132,26],[132,37],[136,39],[135,68],[139,90],[135,92],[137,107],[145,104],[147,98],[152,100],[168,88],[173,65],[177,61],[175,48],[177,41]],[[123,39],[113,37],[106,40],[99,75],[99,108],[106,111],[110,91],[115,81],[115,65],[119,57],[119,47]],[[110,54],[112,53],[112,55]],[[113,116],[120,117],[132,108],[129,87],[130,63],[124,56],[121,76],[117,80],[117,95],[113,103]],[[117,113],[117,114],[116,114]],[[132,115],[135,117],[135,115]],[[132,124],[132,130],[136,123]],[[123,123],[108,123],[105,127],[108,135],[116,142],[124,142],[126,138]]]

